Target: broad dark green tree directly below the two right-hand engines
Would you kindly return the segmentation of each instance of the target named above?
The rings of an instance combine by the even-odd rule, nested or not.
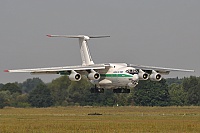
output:
[[[167,106],[169,105],[169,93],[166,80],[160,82],[140,81],[134,88],[135,105],[141,106]]]

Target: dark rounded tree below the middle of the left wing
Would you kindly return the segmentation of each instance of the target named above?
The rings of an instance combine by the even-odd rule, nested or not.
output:
[[[46,85],[40,84],[30,92],[28,101],[33,107],[49,107],[53,105],[53,98]]]

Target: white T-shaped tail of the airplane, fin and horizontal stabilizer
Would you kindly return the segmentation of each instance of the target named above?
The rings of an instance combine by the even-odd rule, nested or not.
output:
[[[79,46],[80,46],[80,53],[81,53],[81,59],[82,59],[82,65],[92,65],[94,64],[92,57],[90,55],[90,51],[88,48],[87,41],[90,40],[90,38],[105,38],[110,36],[85,36],[85,35],[47,35],[48,37],[66,37],[66,38],[78,38],[79,39]]]

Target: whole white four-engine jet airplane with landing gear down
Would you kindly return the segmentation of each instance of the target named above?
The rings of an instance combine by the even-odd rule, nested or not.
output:
[[[68,75],[71,81],[80,81],[86,76],[94,85],[91,93],[104,93],[104,89],[112,89],[114,93],[130,93],[130,88],[136,87],[140,80],[160,81],[162,75],[170,71],[194,72],[194,70],[144,66],[127,63],[95,64],[88,48],[88,40],[110,36],[86,35],[47,35],[48,37],[78,38],[82,65],[4,70],[4,72],[28,72],[31,74]]]

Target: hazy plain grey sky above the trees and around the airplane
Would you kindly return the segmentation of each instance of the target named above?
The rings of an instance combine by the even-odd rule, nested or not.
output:
[[[110,35],[89,40],[95,63],[194,69],[165,77],[200,76],[199,13],[199,0],[2,0],[0,83],[59,77],[5,69],[81,64],[78,39],[47,34]]]

